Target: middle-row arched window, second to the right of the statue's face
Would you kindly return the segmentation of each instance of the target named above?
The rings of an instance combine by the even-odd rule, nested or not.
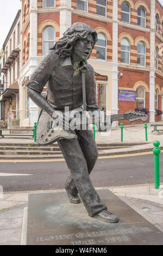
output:
[[[130,62],[130,44],[126,38],[121,40],[121,62],[128,64]]]

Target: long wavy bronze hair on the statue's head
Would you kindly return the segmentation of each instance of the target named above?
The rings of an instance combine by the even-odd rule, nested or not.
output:
[[[65,31],[63,37],[60,38],[51,49],[55,50],[60,57],[71,56],[76,41],[78,39],[87,38],[89,34],[91,34],[94,39],[94,46],[97,42],[97,32],[85,23],[73,23],[73,25]]]

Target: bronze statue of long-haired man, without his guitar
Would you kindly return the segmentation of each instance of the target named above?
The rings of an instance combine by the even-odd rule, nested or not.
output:
[[[49,50],[28,82],[28,96],[51,117],[57,111],[64,112],[83,105],[82,73],[85,73],[86,110],[99,111],[96,98],[94,70],[87,59],[97,41],[96,31],[82,22],[74,23],[64,36]],[[47,99],[41,92],[48,82]],[[93,218],[116,223],[118,217],[109,212],[99,198],[90,180],[90,172],[98,158],[98,150],[90,129],[70,130],[73,139],[58,140],[71,175],[65,189],[71,203],[82,199],[87,212]],[[79,195],[80,198],[79,198]]]

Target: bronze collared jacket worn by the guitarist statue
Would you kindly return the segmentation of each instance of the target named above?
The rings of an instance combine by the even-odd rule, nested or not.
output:
[[[54,109],[64,111],[65,106],[76,109],[83,105],[82,72],[85,72],[87,111],[99,110],[92,66],[82,61],[74,69],[71,58],[61,58],[55,50],[49,50],[30,76],[27,87],[41,93],[47,84],[47,100]]]

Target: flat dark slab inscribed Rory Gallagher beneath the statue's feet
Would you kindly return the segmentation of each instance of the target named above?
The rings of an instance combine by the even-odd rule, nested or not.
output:
[[[65,192],[29,194],[27,245],[162,245],[161,231],[109,189],[98,190],[120,222],[109,224],[71,204]]]

